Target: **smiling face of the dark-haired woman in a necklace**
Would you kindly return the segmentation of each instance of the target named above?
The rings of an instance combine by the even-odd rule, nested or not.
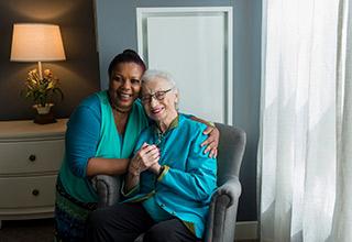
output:
[[[129,112],[141,90],[143,68],[135,63],[119,63],[111,72],[109,96],[112,108]]]

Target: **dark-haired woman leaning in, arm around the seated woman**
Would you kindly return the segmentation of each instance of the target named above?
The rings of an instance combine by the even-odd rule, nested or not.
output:
[[[127,172],[140,133],[150,122],[139,101],[145,68],[131,50],[117,55],[108,70],[109,90],[86,98],[70,116],[56,184],[56,241],[84,241],[86,219],[98,201],[92,176]],[[205,143],[210,143],[207,151],[213,155],[217,131],[211,135]]]

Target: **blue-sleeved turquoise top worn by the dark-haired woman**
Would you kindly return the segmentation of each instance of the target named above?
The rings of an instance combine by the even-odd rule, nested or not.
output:
[[[98,102],[98,103],[97,103]],[[91,108],[98,106],[100,116],[95,118]],[[86,176],[90,157],[130,158],[140,133],[148,124],[140,101],[133,103],[125,133],[122,136],[117,130],[108,91],[94,94],[78,106],[67,124],[66,154],[58,174],[65,191],[82,202],[98,202],[98,195]],[[100,129],[97,140],[88,139],[97,127]],[[94,135],[91,135],[94,136]],[[96,150],[89,157],[87,151],[96,143]],[[89,153],[89,152],[88,152]],[[59,201],[57,201],[59,202]]]

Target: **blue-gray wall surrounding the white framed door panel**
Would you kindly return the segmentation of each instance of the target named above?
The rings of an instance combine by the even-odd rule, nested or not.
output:
[[[124,48],[136,50],[136,13],[142,7],[233,7],[233,120],[248,134],[241,169],[243,193],[239,220],[256,220],[256,148],[261,88],[260,0],[96,0],[98,51],[101,87],[108,84],[107,68],[112,57]]]

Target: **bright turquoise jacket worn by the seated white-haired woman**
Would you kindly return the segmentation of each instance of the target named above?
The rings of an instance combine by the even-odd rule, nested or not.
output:
[[[205,124],[179,114],[178,123],[164,134],[157,132],[155,124],[144,130],[134,153],[144,142],[157,144],[160,164],[165,168],[160,177],[143,172],[139,186],[124,195],[124,202],[154,196],[160,208],[183,220],[197,238],[202,238],[211,195],[217,188],[217,161],[200,147],[207,138],[202,134],[205,129]]]

